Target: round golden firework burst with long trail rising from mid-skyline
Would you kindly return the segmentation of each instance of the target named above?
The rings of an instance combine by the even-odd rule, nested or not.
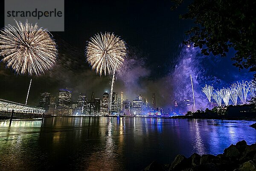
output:
[[[87,62],[99,75],[113,74],[110,95],[110,110],[114,84],[114,73],[122,66],[126,56],[125,42],[113,33],[96,34],[86,47]]]

